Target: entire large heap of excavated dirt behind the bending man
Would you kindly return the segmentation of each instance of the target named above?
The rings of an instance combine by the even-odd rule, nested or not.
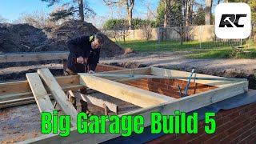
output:
[[[99,30],[91,23],[69,21],[52,29],[37,29],[27,24],[0,24],[0,52],[39,52],[68,50],[68,39],[82,34],[96,34]],[[123,54],[124,50],[106,37],[102,57]]]

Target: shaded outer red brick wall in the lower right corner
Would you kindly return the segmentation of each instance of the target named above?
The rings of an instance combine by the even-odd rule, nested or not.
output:
[[[216,131],[206,134],[204,120],[198,134],[165,134],[148,143],[256,143],[256,103],[216,114]]]

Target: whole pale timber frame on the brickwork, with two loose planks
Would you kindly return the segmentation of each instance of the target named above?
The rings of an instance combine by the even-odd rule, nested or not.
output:
[[[117,138],[120,134],[110,134],[107,129],[106,134],[78,134],[75,127],[75,116],[77,111],[74,110],[71,103],[66,101],[64,91],[78,90],[86,86],[90,89],[97,90],[104,94],[109,94],[112,97],[140,106],[142,108],[139,110],[120,114],[118,116],[135,116],[140,114],[145,119],[144,126],[150,126],[151,112],[160,112],[165,115],[174,114],[174,110],[190,112],[248,91],[248,81],[246,79],[234,81],[234,79],[222,79],[221,77],[212,75],[194,74],[193,78],[198,78],[192,78],[194,82],[209,86],[217,86],[218,88],[190,95],[189,97],[176,99],[119,83],[134,79],[133,77],[120,78],[107,74],[151,74],[154,76],[186,78],[190,76],[190,72],[146,67],[131,70],[108,71],[101,74],[102,76],[96,76],[96,74],[95,76],[93,76],[93,74],[80,74],[76,76],[54,78],[48,69],[40,69],[38,70],[38,73],[28,73],[26,74],[28,81],[0,84],[0,108],[19,106],[36,101],[40,112],[52,111],[54,107],[50,102],[50,98],[54,98],[55,101],[58,102],[62,111],[65,114],[71,115],[71,125],[74,127],[71,128],[70,135],[68,137],[60,137],[58,134],[47,134],[38,138],[26,140],[24,143],[70,143],[82,141],[99,143],[112,138]],[[202,80],[200,78],[210,78],[210,80]],[[110,122],[106,122],[106,128],[109,124]]]

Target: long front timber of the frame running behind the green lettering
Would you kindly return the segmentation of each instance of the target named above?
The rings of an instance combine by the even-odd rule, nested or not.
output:
[[[234,90],[236,92],[231,92]],[[231,84],[230,86],[225,86],[222,88],[217,88],[215,90],[210,90],[204,92],[204,94],[194,94],[190,97],[180,98],[178,101],[166,102],[159,104],[157,106],[150,106],[147,108],[142,108],[139,110],[134,110],[122,115],[142,115],[144,118],[144,126],[151,125],[151,113],[159,112],[162,115],[174,115],[175,110],[180,110],[182,112],[190,112],[197,110],[204,106],[208,106],[212,103],[219,102],[226,98],[234,97],[238,94],[243,94],[244,91],[248,90],[248,82],[238,82]],[[256,92],[255,92],[256,93]],[[189,105],[188,105],[189,104]],[[119,117],[122,117],[119,115]],[[91,142],[91,143],[100,143],[106,142],[107,140],[117,138],[120,134],[110,134],[108,127],[110,122],[106,122],[106,134],[78,134],[76,128],[70,130],[69,137],[59,137],[58,134],[48,134],[38,138],[33,138],[25,141],[25,143],[48,143],[48,142]]]

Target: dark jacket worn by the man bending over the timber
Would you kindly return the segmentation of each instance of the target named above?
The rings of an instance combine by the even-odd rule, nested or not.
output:
[[[67,61],[68,69],[75,73],[85,72],[85,66],[76,62],[76,59],[80,56],[82,56],[82,58],[88,58],[89,70],[96,69],[100,49],[93,50],[91,48],[91,42],[93,40],[94,38],[90,38],[90,36],[82,35],[77,38],[72,38],[67,42],[68,49],[70,50],[70,55]]]

